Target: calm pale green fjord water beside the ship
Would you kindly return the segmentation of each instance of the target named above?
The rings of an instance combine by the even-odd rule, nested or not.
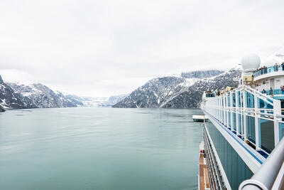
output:
[[[198,109],[0,113],[0,189],[197,189]]]

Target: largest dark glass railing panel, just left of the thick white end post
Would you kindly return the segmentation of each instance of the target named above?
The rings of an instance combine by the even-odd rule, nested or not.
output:
[[[260,126],[261,149],[271,153],[274,149],[274,122],[271,120],[258,119]]]

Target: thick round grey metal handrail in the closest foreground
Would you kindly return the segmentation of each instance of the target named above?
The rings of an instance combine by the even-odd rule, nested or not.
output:
[[[284,138],[273,149],[256,174],[239,186],[239,190],[254,189],[284,189]]]

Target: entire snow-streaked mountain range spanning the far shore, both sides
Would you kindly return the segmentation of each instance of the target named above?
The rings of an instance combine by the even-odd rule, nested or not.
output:
[[[130,95],[82,97],[64,95],[40,83],[4,83],[0,76],[0,108],[35,107],[197,107],[204,90],[236,86],[240,68],[202,70],[153,78]],[[1,111],[1,110],[0,110]]]

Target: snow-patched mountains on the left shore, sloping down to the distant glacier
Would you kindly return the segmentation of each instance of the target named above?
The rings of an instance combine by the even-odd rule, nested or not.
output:
[[[47,108],[47,107],[111,107],[126,95],[110,97],[80,97],[64,95],[37,83],[23,85],[4,83],[0,76],[0,112],[3,108]]]

